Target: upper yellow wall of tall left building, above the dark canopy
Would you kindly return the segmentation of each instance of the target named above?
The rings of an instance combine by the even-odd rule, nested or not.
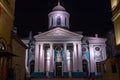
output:
[[[0,0],[0,38],[6,41],[6,51],[11,52],[11,33],[13,30],[15,0]],[[11,5],[11,6],[10,6]]]

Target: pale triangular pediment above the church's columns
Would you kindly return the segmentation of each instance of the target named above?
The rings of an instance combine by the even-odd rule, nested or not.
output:
[[[44,33],[38,34],[34,36],[36,40],[44,40],[44,39],[81,39],[82,35],[71,32],[69,30],[63,29],[63,28],[55,28],[49,31],[46,31]]]

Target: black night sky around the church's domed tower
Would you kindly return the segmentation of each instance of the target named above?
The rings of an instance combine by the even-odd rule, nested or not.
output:
[[[61,0],[70,13],[70,30],[83,31],[84,35],[100,36],[113,29],[110,0]],[[48,30],[48,13],[57,0],[16,0],[14,26],[19,37],[28,37]]]

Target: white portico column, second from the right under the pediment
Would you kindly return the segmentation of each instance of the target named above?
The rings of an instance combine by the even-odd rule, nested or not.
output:
[[[77,72],[77,48],[76,48],[76,43],[73,43],[73,72]]]

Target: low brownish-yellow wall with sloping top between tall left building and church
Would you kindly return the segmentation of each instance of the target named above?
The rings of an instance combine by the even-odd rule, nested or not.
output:
[[[25,78],[25,50],[26,46],[16,37],[12,39],[13,53],[16,55],[12,58],[12,67],[16,72],[16,80]]]

